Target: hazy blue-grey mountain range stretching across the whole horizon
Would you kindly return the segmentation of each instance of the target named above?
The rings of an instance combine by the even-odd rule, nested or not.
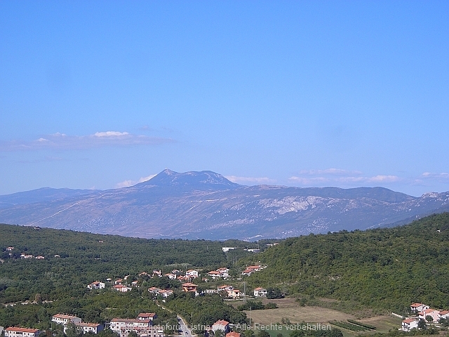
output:
[[[128,237],[263,239],[365,230],[449,211],[449,192],[384,187],[245,186],[168,169],[113,190],[41,188],[0,196],[0,222]]]

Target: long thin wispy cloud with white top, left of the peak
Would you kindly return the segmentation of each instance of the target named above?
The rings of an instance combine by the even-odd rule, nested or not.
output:
[[[36,140],[11,140],[0,143],[0,151],[21,150],[81,150],[92,147],[119,145],[158,145],[173,143],[171,138],[133,135],[128,132],[100,131],[88,136],[68,136],[65,133],[53,133]]]

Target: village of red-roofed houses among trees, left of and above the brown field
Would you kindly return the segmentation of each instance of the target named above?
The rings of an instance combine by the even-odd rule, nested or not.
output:
[[[9,248],[9,247],[8,247]],[[13,249],[13,247],[11,247]],[[33,256],[26,256],[22,254],[21,258],[32,258]],[[260,271],[264,269],[266,266],[262,265],[250,265],[245,268],[241,272],[242,276],[251,275],[253,272]],[[185,273],[180,270],[172,270],[170,273],[163,274],[161,270],[153,270],[151,273],[140,272],[138,275],[139,279],[128,282],[129,275],[126,275],[123,278],[112,280],[110,278],[106,279],[105,282],[95,281],[91,282],[87,285],[88,289],[106,289],[107,284],[112,284],[110,286],[114,291],[120,291],[126,293],[128,291],[132,291],[133,288],[137,288],[140,286],[140,280],[143,277],[166,277],[171,280],[178,280],[180,282],[185,282],[181,284],[181,289],[179,291],[184,291],[188,293],[194,293],[194,296],[200,296],[201,294],[206,293],[218,293],[223,298],[227,299],[238,299],[246,296],[246,293],[240,291],[239,289],[234,289],[234,286],[231,285],[220,285],[213,289],[205,289],[199,293],[198,286],[192,282],[194,279],[201,277],[199,274],[199,270],[187,270]],[[217,270],[211,270],[207,273],[206,277],[202,278],[203,282],[208,282],[209,280],[217,280],[217,279],[229,279],[229,268],[220,267]],[[165,302],[165,299],[168,296],[173,295],[173,289],[159,289],[154,286],[147,289],[149,293],[154,296],[154,300],[161,299],[162,302]],[[262,287],[257,287],[253,290],[254,297],[262,297],[267,296],[267,289]],[[27,303],[22,303],[27,304]],[[64,333],[67,332],[67,329],[75,329],[78,332],[83,333],[91,333],[97,334],[104,329],[111,329],[114,333],[117,333],[119,337],[128,337],[129,333],[135,333],[138,337],[164,337],[166,336],[166,326],[154,326],[153,320],[157,317],[154,312],[142,312],[135,318],[114,318],[111,319],[110,322],[105,324],[97,324],[91,322],[82,322],[81,318],[76,317],[74,315],[67,315],[63,313],[59,313],[57,315],[53,315],[52,322],[57,324],[62,324]],[[182,326],[182,318],[178,317],[178,321],[180,322],[180,326]],[[177,328],[179,328],[178,326]],[[212,326],[205,326],[206,331],[210,331],[210,335],[217,330],[223,331],[226,333],[226,337],[240,337],[240,333],[236,333],[235,331],[231,331],[229,328],[229,322],[224,319],[220,319]],[[187,326],[185,329],[188,329]],[[3,327],[0,327],[0,331],[3,330]],[[182,333],[182,329],[177,329],[178,333]],[[4,329],[5,337],[38,337],[39,334],[44,331],[39,331],[38,329],[29,329],[22,326],[10,326]],[[185,331],[185,333],[189,333],[190,331]]]

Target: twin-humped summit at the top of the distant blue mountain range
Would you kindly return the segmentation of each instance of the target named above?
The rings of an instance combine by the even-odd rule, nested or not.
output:
[[[154,185],[160,187],[177,187],[187,190],[231,190],[240,187],[221,174],[213,171],[189,171],[178,173],[165,169],[159,174],[138,185]]]

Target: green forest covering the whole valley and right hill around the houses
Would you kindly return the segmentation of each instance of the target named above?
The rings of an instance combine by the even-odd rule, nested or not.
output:
[[[302,305],[321,305],[320,298],[333,298],[346,305],[337,309],[353,306],[405,314],[413,302],[449,308],[449,213],[402,227],[309,234],[276,242],[268,247],[269,241],[138,239],[0,225],[0,303],[4,304],[0,325],[49,329],[51,316],[58,312],[98,323],[140,312],[156,312],[160,324],[175,322],[175,313],[189,324],[212,324],[217,319],[248,322],[244,312],[217,294],[194,297],[182,293],[177,280],[139,276],[152,270],[190,268],[206,275],[224,266],[234,277],[226,283],[242,289],[246,282],[248,293],[257,286],[274,289]],[[224,253],[223,246],[239,249]],[[262,253],[244,248],[260,248]],[[20,258],[22,253],[44,258]],[[241,270],[255,263],[267,267],[241,279]],[[128,293],[114,291],[112,282],[105,282],[126,275],[128,283],[139,282]],[[96,280],[105,282],[106,288],[87,289]],[[216,289],[224,281],[196,279],[195,283],[203,290]],[[150,286],[175,291],[165,309],[156,305],[147,291]]]

